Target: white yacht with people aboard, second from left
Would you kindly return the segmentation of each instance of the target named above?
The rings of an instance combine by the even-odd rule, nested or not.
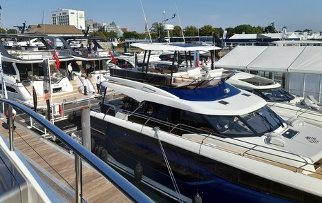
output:
[[[111,42],[106,37],[97,36],[61,36],[46,37],[48,41],[53,41],[51,46],[57,50],[70,50],[73,57],[73,68],[75,77],[80,84],[86,83],[88,92],[95,93],[97,77],[103,79],[104,75],[108,75],[108,68],[111,64],[112,57],[117,57],[117,52],[113,50]],[[91,49],[88,49],[88,46]],[[75,67],[74,67],[75,66]],[[86,76],[86,77],[84,77]]]

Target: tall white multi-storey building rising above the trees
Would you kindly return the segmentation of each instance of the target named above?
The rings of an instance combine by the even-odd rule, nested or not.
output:
[[[51,12],[54,25],[75,26],[79,30],[85,30],[85,12],[83,10],[71,10],[59,8]]]

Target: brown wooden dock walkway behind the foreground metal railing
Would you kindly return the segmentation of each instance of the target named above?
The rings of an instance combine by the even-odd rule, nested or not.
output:
[[[8,139],[6,119],[1,119],[0,133]],[[45,182],[51,186],[63,186],[63,196],[75,202],[74,155],[27,128],[27,124],[15,119],[14,146],[25,155]],[[43,170],[46,169],[46,171]],[[57,181],[59,180],[59,181]],[[86,202],[131,202],[111,182],[83,161],[83,199]],[[61,192],[61,191],[60,191]]]

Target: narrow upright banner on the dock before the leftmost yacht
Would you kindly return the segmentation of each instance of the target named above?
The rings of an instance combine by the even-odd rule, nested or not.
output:
[[[47,104],[47,119],[50,121],[50,68],[49,59],[44,59],[44,100]]]

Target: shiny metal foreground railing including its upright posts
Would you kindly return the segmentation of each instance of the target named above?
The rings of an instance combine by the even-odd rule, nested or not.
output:
[[[48,122],[48,120],[44,119],[44,117],[41,117],[41,115],[35,113],[27,106],[17,103],[16,101],[0,98],[0,102],[9,106],[9,112],[11,112],[11,108],[15,108],[16,110],[19,110],[22,113],[32,117],[32,119],[35,119],[35,121],[44,126],[44,128],[48,129],[50,133],[57,137],[71,151],[73,151],[75,154],[75,202],[82,202],[82,160],[95,168],[98,173],[113,183],[117,189],[120,189],[120,191],[122,191],[122,193],[124,193],[124,195],[129,197],[131,200],[135,202],[152,202],[149,197],[133,186],[133,184],[122,177],[122,175],[117,173],[113,168],[111,168],[111,166],[108,166],[105,162],[100,160],[99,157],[88,151],[88,149],[81,144],[77,143],[75,139],[64,133],[64,131],[61,131],[61,129],[59,129],[57,126]],[[14,151],[15,145],[13,142],[12,116],[10,116],[9,120],[11,121],[11,125],[9,126],[10,151]]]

